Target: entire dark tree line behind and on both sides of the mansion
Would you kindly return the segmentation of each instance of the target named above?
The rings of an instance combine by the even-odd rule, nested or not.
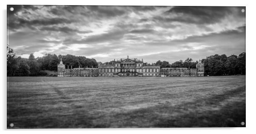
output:
[[[57,64],[62,59],[66,68],[77,67],[97,67],[101,62],[97,62],[95,59],[89,59],[85,56],[74,55],[59,55],[46,54],[43,57],[35,58],[33,53],[30,54],[28,59],[16,56],[14,50],[7,47],[7,76],[36,76],[46,75],[44,70],[57,71]],[[205,75],[245,75],[245,52],[239,54],[239,56],[231,55],[214,55],[208,56],[202,59],[202,63],[205,65]],[[114,61],[105,62],[103,64],[114,64]],[[172,64],[168,61],[156,61],[152,63],[163,67],[186,67],[196,68],[198,61],[193,61],[191,58],[185,59],[185,61],[179,60]],[[148,65],[148,63],[144,63]]]

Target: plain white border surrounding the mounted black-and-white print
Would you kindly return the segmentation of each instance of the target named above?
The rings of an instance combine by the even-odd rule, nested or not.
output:
[[[6,130],[6,5],[139,5],[139,6],[246,6],[246,128],[108,128],[108,129],[26,129],[26,130]],[[69,134],[75,133],[111,133],[111,134],[130,134],[146,132],[155,133],[181,133],[181,134],[242,134],[253,133],[256,122],[255,118],[255,95],[256,87],[254,86],[255,75],[255,3],[253,0],[2,0],[1,1],[1,110],[0,131],[5,133],[20,134],[44,134],[56,133]],[[38,131],[40,130],[40,131]]]

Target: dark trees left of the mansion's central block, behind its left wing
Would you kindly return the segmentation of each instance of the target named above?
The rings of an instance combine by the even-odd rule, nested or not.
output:
[[[95,59],[85,56],[46,54],[35,58],[31,53],[27,58],[16,56],[14,50],[7,47],[7,76],[36,76],[46,75],[43,70],[57,71],[57,64],[62,59],[66,68],[75,67],[97,67]]]

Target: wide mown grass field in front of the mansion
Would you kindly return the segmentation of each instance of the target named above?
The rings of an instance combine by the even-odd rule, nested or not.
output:
[[[245,127],[241,122],[246,123],[245,76],[7,79],[7,128]]]

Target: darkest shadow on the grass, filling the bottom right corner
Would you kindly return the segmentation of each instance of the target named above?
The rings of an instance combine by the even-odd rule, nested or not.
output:
[[[245,102],[235,102],[218,111],[190,112],[174,119],[162,119],[155,127],[245,127]]]

